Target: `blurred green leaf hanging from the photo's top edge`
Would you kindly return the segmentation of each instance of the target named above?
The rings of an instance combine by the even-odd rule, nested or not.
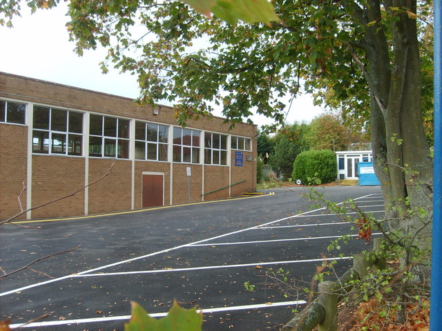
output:
[[[211,17],[211,13],[220,19],[236,24],[238,19],[247,22],[265,23],[280,21],[273,6],[267,0],[182,0],[196,11]]]

